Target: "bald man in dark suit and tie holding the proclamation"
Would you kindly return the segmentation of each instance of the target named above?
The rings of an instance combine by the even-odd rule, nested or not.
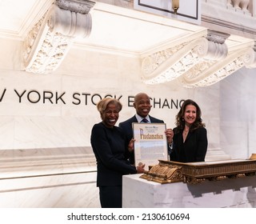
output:
[[[158,118],[151,117],[150,109],[150,97],[145,93],[139,93],[134,97],[134,108],[136,110],[136,114],[132,117],[127,119],[125,122],[120,122],[119,127],[122,128],[122,131],[126,134],[126,138],[128,142],[133,139],[133,122],[144,122],[144,123],[164,123],[162,120]],[[168,145],[171,144],[172,138],[174,136],[173,130],[166,129],[166,138]],[[134,164],[134,152],[131,153],[130,156],[130,163]]]

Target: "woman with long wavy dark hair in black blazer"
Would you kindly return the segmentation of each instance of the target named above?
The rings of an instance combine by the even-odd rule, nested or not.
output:
[[[207,131],[198,104],[191,99],[183,102],[175,124],[170,160],[204,162],[208,146]]]

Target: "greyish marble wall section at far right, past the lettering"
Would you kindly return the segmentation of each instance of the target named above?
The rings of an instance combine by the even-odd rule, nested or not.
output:
[[[220,142],[232,158],[256,153],[255,71],[242,68],[220,82]]]

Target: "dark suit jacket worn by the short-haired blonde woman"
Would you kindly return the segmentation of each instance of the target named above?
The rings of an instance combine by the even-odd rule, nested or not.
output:
[[[126,136],[118,126],[95,124],[90,142],[97,160],[97,186],[121,186],[122,175],[137,173],[128,161]]]

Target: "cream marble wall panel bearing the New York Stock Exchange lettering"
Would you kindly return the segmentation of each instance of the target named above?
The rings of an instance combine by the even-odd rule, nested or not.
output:
[[[176,108],[192,98],[202,107],[209,142],[219,144],[219,86],[186,89],[175,82],[146,85],[136,58],[70,50],[53,74],[1,70],[1,149],[90,146],[90,130],[100,116],[95,104],[110,95],[120,98],[119,122],[134,115],[133,97],[153,98],[151,115],[174,127]]]

